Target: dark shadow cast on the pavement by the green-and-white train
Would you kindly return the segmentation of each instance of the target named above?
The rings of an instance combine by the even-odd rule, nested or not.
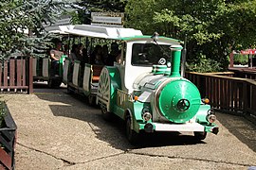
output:
[[[68,117],[88,123],[99,140],[123,151],[150,146],[205,144],[204,142],[198,143],[198,141],[195,141],[193,135],[166,132],[142,133],[139,144],[129,144],[125,137],[124,122],[118,117],[114,116],[113,121],[106,122],[101,117],[101,110],[86,104],[84,97],[75,94],[70,95],[62,90],[57,90],[59,93],[48,93],[48,91],[45,89],[44,92],[35,94],[42,100],[62,103],[62,105],[53,104],[49,106],[55,116]]]

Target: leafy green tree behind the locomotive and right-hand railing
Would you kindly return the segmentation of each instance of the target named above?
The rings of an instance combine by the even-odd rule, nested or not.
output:
[[[157,29],[160,35],[180,40],[187,35],[189,62],[198,63],[206,57],[210,60],[206,63],[226,69],[231,50],[255,44],[255,3],[255,0],[130,0],[125,11],[127,26],[143,33],[152,34]]]

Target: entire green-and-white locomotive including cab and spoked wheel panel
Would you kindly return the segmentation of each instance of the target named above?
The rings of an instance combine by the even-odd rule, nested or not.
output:
[[[164,41],[166,39],[162,39]],[[158,49],[156,42],[146,43]],[[156,59],[160,64],[147,67],[151,71],[146,72],[145,65],[147,62],[152,64],[154,60],[145,58],[141,62],[144,67],[140,65],[139,59],[133,61],[134,51],[139,51],[136,48],[139,45],[142,46],[136,42],[131,45],[127,42],[127,48],[131,46],[133,50],[126,50],[126,65],[102,70],[98,103],[103,116],[107,117],[113,112],[122,118],[126,125],[126,136],[131,143],[137,143],[140,131],[189,131],[194,133],[196,140],[204,140],[207,132],[217,134],[218,126],[214,123],[216,116],[210,109],[208,99],[202,99],[197,87],[180,76],[182,46],[177,43],[168,46],[171,46],[172,52],[169,64],[163,58],[164,55],[159,55],[162,47],[157,53],[153,50],[152,54],[161,56]],[[132,59],[128,58],[129,52]]]

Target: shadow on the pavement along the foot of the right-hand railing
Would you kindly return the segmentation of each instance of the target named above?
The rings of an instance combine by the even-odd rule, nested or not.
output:
[[[218,121],[229,132],[236,136],[242,143],[256,152],[256,126],[243,116],[230,115],[227,113],[217,113]]]

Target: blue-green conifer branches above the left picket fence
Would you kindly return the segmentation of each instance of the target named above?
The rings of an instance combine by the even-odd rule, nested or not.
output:
[[[67,3],[58,0],[6,0],[0,3],[1,59],[13,53],[40,56],[46,50],[49,35],[44,25],[50,25]],[[29,30],[29,35],[26,31]]]

